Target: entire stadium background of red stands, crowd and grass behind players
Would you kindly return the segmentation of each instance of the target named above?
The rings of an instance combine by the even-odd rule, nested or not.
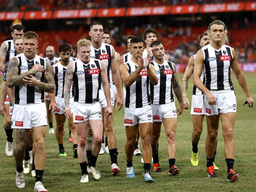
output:
[[[80,38],[89,38],[88,30],[93,22],[101,22],[104,30],[110,32],[112,45],[121,55],[126,53],[126,35],[142,37],[146,27],[157,30],[157,38],[162,40],[169,60],[177,64],[178,78],[181,78],[189,57],[199,49],[198,37],[206,32],[207,26],[215,19],[225,22],[228,27],[229,45],[234,47],[242,70],[245,72],[251,96],[256,100],[256,1],[236,2],[232,0],[1,0],[0,1],[0,41],[10,38],[11,25],[22,23],[26,31],[35,31],[39,35],[38,54],[45,56],[45,48],[53,45],[56,50],[62,43],[70,43],[76,49]],[[75,53],[75,52],[74,52]],[[75,56],[75,55],[74,55]],[[250,72],[250,73],[247,73]],[[115,112],[114,127],[118,138],[119,164],[121,177],[110,177],[109,156],[98,159],[102,179],[97,182],[89,177],[86,186],[91,191],[125,190],[159,191],[175,188],[177,191],[253,191],[255,190],[255,115],[254,109],[243,107],[244,93],[232,75],[237,95],[237,119],[234,128],[236,144],[235,168],[241,173],[237,185],[224,183],[226,165],[223,154],[223,138],[219,128],[217,166],[219,178],[215,183],[207,180],[205,168],[204,141],[206,123],[199,143],[200,164],[194,168],[190,165],[192,122],[189,111],[185,110],[179,117],[176,132],[177,164],[181,167],[179,177],[167,177],[166,138],[162,127],[159,140],[159,157],[164,167],[163,173],[153,173],[155,183],[147,186],[142,183],[142,164],[140,157],[134,157],[136,180],[125,178],[125,130],[123,129],[123,112]],[[189,81],[188,95],[191,95],[192,79]],[[191,99],[189,99],[191,101]],[[0,117],[1,125],[4,118]],[[56,124],[54,122],[54,127]],[[48,128],[48,127],[47,127]],[[246,129],[245,129],[246,128]],[[2,129],[2,128],[1,128]],[[65,130],[67,132],[67,125]],[[3,130],[3,129],[2,129]],[[13,134],[14,136],[14,134]],[[64,136],[64,145],[68,157],[60,160],[55,135],[46,136],[47,164],[43,182],[49,191],[82,191],[78,182],[80,168],[78,160],[71,155],[68,134]],[[0,188],[3,191],[31,191],[34,178],[25,176],[26,188],[18,190],[15,181],[15,163],[13,157],[4,153],[6,136],[0,132]],[[254,154],[254,155],[252,155]],[[252,157],[253,156],[253,157]],[[104,158],[102,158],[104,157]],[[106,163],[107,162],[107,163]],[[67,169],[63,169],[63,167]],[[141,173],[139,173],[139,171]],[[60,173],[60,174],[59,174]],[[92,181],[92,182],[91,182]],[[171,181],[171,185],[170,185]],[[61,184],[61,185],[59,185]],[[143,184],[143,185],[142,185]],[[118,188],[117,188],[118,186]]]

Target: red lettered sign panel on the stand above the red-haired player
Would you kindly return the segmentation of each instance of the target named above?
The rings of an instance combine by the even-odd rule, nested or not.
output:
[[[54,11],[52,19],[95,17],[97,9],[73,9]]]

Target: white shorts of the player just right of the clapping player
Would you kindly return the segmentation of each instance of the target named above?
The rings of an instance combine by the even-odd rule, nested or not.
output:
[[[175,102],[152,104],[153,122],[162,122],[163,118],[177,118]]]

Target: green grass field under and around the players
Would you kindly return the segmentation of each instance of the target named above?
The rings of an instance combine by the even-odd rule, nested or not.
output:
[[[183,74],[178,74],[180,83]],[[256,101],[256,74],[246,74],[247,83],[254,101]],[[190,110],[185,110],[178,117],[178,127],[176,132],[177,158],[176,165],[181,168],[178,176],[168,175],[168,157],[167,141],[164,129],[159,139],[159,159],[163,172],[154,173],[151,176],[155,183],[148,184],[143,181],[143,165],[140,162],[141,156],[133,157],[133,166],[135,169],[135,178],[126,178],[126,158],[124,146],[126,143],[125,129],[123,127],[123,111],[115,111],[114,128],[118,140],[118,165],[121,169],[120,175],[111,176],[110,157],[108,154],[100,155],[97,160],[97,166],[100,169],[101,179],[95,181],[89,174],[89,183],[80,183],[81,171],[78,159],[72,156],[72,144],[68,140],[68,128],[65,126],[64,146],[68,157],[58,156],[58,144],[54,134],[46,135],[45,147],[47,151],[47,160],[43,184],[49,192],[86,192],[86,191],[256,191],[256,106],[249,108],[243,106],[245,95],[237,83],[235,76],[232,75],[235,92],[237,96],[237,118],[234,127],[235,140],[235,164],[234,170],[239,173],[240,179],[236,183],[226,182],[226,162],[224,157],[224,141],[219,127],[219,142],[216,165],[219,167],[218,178],[209,179],[206,173],[206,153],[204,148],[206,138],[206,122],[201,140],[198,144],[199,166],[192,166],[190,156],[192,151],[191,134],[192,119]],[[192,79],[189,81],[188,95],[191,95]],[[189,98],[191,101],[191,98]],[[35,178],[31,174],[25,175],[26,187],[18,189],[15,185],[15,161],[13,157],[7,157],[5,154],[6,135],[2,128],[4,118],[0,117],[0,191],[2,192],[25,192],[34,191]],[[56,124],[54,123],[54,126]],[[48,127],[47,127],[48,129]],[[48,131],[47,131],[48,132]],[[140,143],[140,146],[141,143]],[[151,166],[152,167],[152,166]]]

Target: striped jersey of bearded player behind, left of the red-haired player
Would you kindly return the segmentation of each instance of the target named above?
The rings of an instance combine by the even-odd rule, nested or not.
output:
[[[52,65],[54,70],[54,81],[55,81],[55,96],[64,97],[64,82],[66,74],[66,66],[62,65],[60,62]],[[73,83],[70,89],[70,97],[74,97],[75,89],[73,88]]]

